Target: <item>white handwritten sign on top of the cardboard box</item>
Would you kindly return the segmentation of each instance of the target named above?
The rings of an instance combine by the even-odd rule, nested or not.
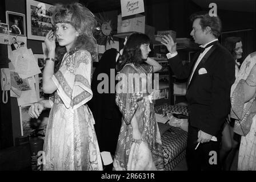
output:
[[[122,17],[143,13],[143,0],[121,0]]]

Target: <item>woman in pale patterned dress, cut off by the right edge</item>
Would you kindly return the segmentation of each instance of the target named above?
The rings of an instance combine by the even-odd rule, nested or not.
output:
[[[238,154],[239,171],[256,171],[256,52],[243,61],[231,87],[234,132],[242,135]]]

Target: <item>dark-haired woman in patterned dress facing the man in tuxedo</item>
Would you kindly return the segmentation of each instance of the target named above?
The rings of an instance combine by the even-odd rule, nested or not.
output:
[[[163,169],[162,143],[155,120],[154,104],[151,98],[152,80],[150,79],[153,70],[154,72],[158,70],[151,64],[154,63],[154,60],[150,63],[147,59],[151,51],[149,41],[147,35],[135,33],[130,35],[123,48],[121,71],[118,75],[120,81],[116,86],[115,100],[123,115],[113,163],[113,169],[117,171],[129,169],[131,146],[133,142],[141,143],[142,140],[149,148],[149,152],[146,152],[149,158],[146,157],[146,159],[153,159],[150,169]],[[144,61],[148,64],[145,64]],[[141,77],[141,81],[137,83],[133,82],[133,77],[130,77],[136,77],[136,74]],[[142,156],[143,154],[138,154],[138,161]],[[143,162],[149,161],[144,160]],[[144,169],[146,167],[138,170]]]

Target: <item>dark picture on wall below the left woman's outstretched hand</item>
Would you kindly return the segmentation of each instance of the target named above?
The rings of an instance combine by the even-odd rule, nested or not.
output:
[[[29,107],[31,105],[19,106],[19,115],[21,121],[21,135],[29,137],[45,137],[46,127],[50,109],[45,109],[38,118],[31,118],[29,115]]]

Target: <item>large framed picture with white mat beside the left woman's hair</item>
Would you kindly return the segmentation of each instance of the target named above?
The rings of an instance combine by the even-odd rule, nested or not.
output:
[[[52,28],[51,13],[53,5],[39,1],[27,0],[27,39],[45,40],[47,32]]]

